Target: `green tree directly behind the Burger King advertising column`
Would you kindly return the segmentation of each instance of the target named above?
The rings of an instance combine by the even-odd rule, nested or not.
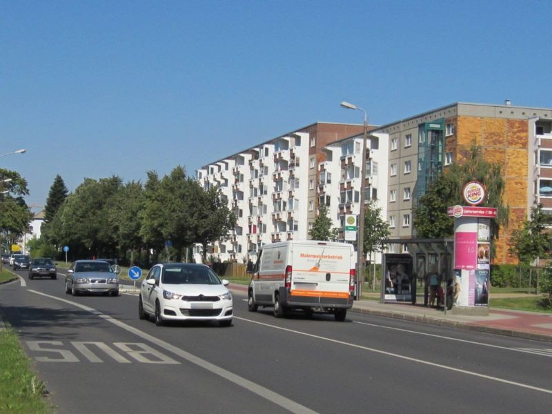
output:
[[[482,206],[497,208],[497,219],[491,220],[493,239],[500,226],[508,224],[508,208],[502,204],[506,183],[502,178],[502,166],[483,159],[483,150],[473,144],[460,153],[463,164],[453,164],[428,186],[427,193],[417,200],[413,208],[413,225],[417,237],[452,237],[454,219],[447,214],[449,206],[463,204],[462,188],[469,181],[480,181],[487,190]]]

